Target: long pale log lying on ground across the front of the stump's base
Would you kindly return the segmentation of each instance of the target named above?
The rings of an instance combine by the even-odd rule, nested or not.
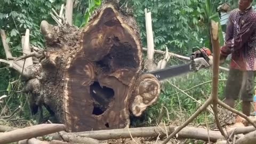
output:
[[[65,133],[64,135],[76,136],[76,137],[87,137],[97,140],[109,140],[109,139],[120,139],[120,138],[133,138],[135,137],[166,137],[166,134],[171,134],[176,129],[176,126],[155,126],[155,127],[137,127],[137,128],[125,128],[115,130],[99,130],[99,131],[86,131],[86,132],[75,132]],[[167,131],[167,132],[166,132]],[[209,137],[212,142],[218,139],[223,139],[219,131],[209,131]],[[208,140],[208,133],[206,129],[198,127],[185,127],[178,133],[178,139],[198,139]]]

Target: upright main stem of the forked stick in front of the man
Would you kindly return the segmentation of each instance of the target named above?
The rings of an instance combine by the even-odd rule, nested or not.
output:
[[[217,127],[223,137],[226,138],[227,142],[228,138],[225,132],[223,131],[219,118],[218,118],[218,83],[219,83],[219,63],[220,63],[220,44],[219,44],[219,37],[218,37],[218,22],[211,21],[211,39],[212,39],[212,46],[213,46],[213,76],[212,76],[212,102],[213,102],[213,112]]]

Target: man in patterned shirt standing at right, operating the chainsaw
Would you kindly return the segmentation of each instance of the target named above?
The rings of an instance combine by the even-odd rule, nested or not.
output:
[[[239,0],[239,7],[230,12],[225,45],[221,47],[220,61],[231,54],[230,71],[225,89],[225,103],[234,107],[241,92],[243,114],[249,116],[254,95],[256,70],[256,12],[252,0]]]

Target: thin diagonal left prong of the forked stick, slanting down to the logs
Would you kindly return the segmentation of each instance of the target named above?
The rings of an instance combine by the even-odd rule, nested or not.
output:
[[[174,132],[172,132],[172,134],[169,135],[169,137],[167,137],[162,144],[166,144],[168,141],[170,141],[171,138],[173,138],[178,132],[180,132],[184,127],[186,127],[190,122],[192,122],[199,114],[201,114],[202,111],[204,111],[211,104],[211,102],[212,102],[212,97],[207,99],[204,105],[198,108],[198,110],[192,116],[190,116],[186,122],[181,124]]]

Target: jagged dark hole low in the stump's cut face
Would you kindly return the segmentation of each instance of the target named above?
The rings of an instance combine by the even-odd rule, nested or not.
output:
[[[95,81],[90,85],[90,95],[93,99],[92,114],[101,115],[107,110],[109,102],[114,98],[115,92],[109,87],[101,87],[99,82]]]

